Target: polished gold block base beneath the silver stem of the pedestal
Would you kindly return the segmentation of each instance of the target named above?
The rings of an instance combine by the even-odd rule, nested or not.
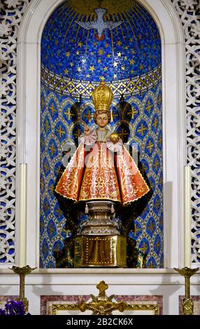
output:
[[[122,235],[76,237],[74,267],[127,267],[127,238]]]

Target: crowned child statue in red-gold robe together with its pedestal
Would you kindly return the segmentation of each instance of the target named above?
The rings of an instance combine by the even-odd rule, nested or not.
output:
[[[108,130],[112,101],[112,90],[101,82],[92,92],[97,129],[85,125],[80,145],[56,186],[59,195],[85,202],[89,214],[82,235],[76,238],[77,267],[126,266],[126,239],[113,221],[115,207],[134,202],[149,191],[120,136]],[[113,264],[112,257],[119,261]]]

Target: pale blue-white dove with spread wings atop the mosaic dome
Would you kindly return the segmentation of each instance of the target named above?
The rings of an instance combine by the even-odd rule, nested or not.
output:
[[[123,21],[120,22],[113,22],[113,21],[108,21],[104,22],[103,20],[103,15],[106,13],[106,9],[103,8],[97,8],[94,10],[95,13],[97,13],[97,20],[94,21],[92,20],[91,22],[80,22],[76,21],[78,25],[83,27],[83,29],[97,29],[98,32],[98,38],[99,40],[102,40],[102,35],[103,35],[103,29],[115,29],[115,27],[118,27],[123,23]]]

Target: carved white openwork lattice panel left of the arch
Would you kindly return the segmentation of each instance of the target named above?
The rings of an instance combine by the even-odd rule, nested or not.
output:
[[[0,4],[0,262],[15,259],[15,118],[17,34],[30,0]]]

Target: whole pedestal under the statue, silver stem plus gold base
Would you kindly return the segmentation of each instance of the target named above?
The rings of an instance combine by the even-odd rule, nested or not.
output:
[[[115,202],[86,202],[88,220],[75,238],[75,267],[127,267],[127,237],[117,230]]]

